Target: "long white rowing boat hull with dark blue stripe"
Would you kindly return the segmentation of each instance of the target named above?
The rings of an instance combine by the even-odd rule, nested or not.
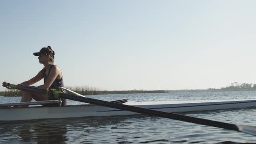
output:
[[[49,101],[56,103],[58,101]],[[154,109],[165,112],[208,111],[231,108],[256,107],[256,99],[233,100],[200,100],[200,101],[113,101],[135,107]],[[0,122],[33,120],[45,118],[77,118],[87,116],[116,116],[135,115],[138,113],[108,108],[100,105],[67,105],[67,106],[38,106],[47,104],[47,101],[36,101],[14,104],[0,104]],[[30,105],[27,108],[15,107],[16,105]],[[14,107],[13,107],[14,106]]]

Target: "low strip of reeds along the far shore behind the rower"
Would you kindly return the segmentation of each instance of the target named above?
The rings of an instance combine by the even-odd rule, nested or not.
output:
[[[164,93],[167,90],[155,90],[155,91],[144,91],[144,90],[129,90],[129,91],[101,91],[98,88],[89,86],[77,86],[77,87],[66,87],[81,95],[107,95],[107,94],[135,94],[135,93]],[[68,92],[69,93],[69,92]],[[6,90],[0,92],[0,96],[22,96],[22,92],[19,90]]]

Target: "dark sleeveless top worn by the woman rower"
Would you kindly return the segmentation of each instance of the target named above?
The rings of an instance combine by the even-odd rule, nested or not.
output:
[[[45,69],[45,68],[43,69],[43,73],[44,73],[43,83],[45,83],[45,82],[46,82],[46,79],[48,79],[49,74],[50,74],[51,69],[53,68],[53,66],[54,66],[54,65],[51,65],[51,66],[50,66],[50,69],[49,69],[49,72],[48,72],[47,75],[45,74],[46,69]],[[62,75],[62,74],[61,74],[61,75]],[[62,76],[62,77],[63,77],[63,76]],[[49,89],[56,89],[57,91],[61,91],[61,92],[63,92],[63,93],[66,93],[65,90],[63,90],[63,89],[60,88],[60,87],[64,87],[64,82],[63,82],[62,77],[61,77],[61,79],[55,79],[54,82],[53,82],[53,84],[49,87]],[[49,100],[56,100],[56,98],[53,98],[53,97],[49,96]],[[66,98],[59,98],[59,100],[62,101],[61,106],[66,106],[66,105],[67,105]]]

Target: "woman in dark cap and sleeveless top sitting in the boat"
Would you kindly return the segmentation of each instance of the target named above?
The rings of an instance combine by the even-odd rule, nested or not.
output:
[[[62,73],[57,65],[53,65],[54,63],[54,55],[55,52],[53,49],[48,47],[43,47],[39,52],[33,53],[34,56],[38,56],[39,63],[44,65],[44,68],[38,72],[38,74],[33,77],[32,79],[22,82],[19,85],[20,86],[29,86],[33,85],[36,82],[39,82],[41,79],[44,79],[44,84],[38,86],[37,88],[42,89],[57,89],[62,92],[62,89],[60,87],[64,87],[63,79],[62,79]],[[6,83],[6,82],[3,82]],[[7,87],[8,89],[12,89],[11,87]],[[22,92],[22,98],[20,102],[26,102],[26,101],[32,101],[32,98],[36,101],[48,101],[48,100],[57,100],[51,95],[46,94],[37,94],[33,92]],[[66,99],[61,98],[58,99],[61,100],[61,105],[66,105]]]

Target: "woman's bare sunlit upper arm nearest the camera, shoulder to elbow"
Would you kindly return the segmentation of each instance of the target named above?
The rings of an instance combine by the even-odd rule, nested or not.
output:
[[[59,67],[57,67],[56,65],[54,65],[49,73],[49,77],[46,79],[45,84],[38,86],[38,88],[42,88],[42,89],[49,89],[50,86],[53,84],[53,82],[55,81],[55,79],[58,77],[58,75],[60,75],[60,69]]]

